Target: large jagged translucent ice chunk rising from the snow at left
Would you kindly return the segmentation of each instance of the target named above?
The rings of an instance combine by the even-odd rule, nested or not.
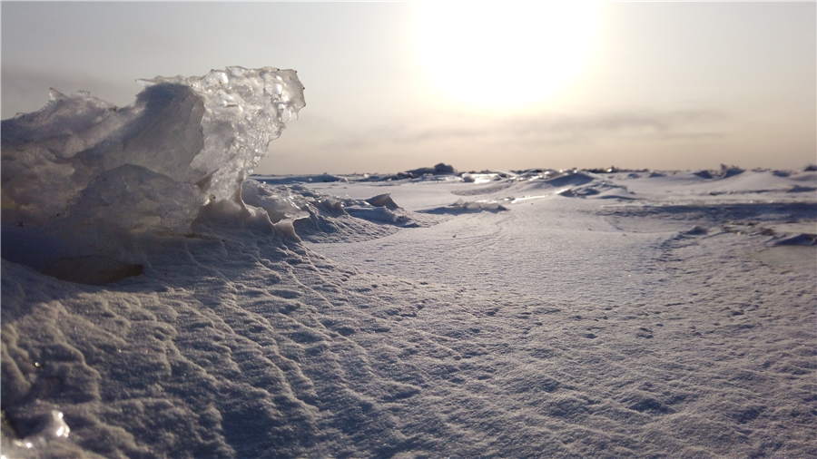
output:
[[[247,211],[241,182],[305,105],[293,70],[157,77],[119,108],[51,91],[2,125],[3,223],[189,231],[202,206]]]

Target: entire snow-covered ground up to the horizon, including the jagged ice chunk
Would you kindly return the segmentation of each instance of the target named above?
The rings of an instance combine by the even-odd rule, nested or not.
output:
[[[287,72],[4,122],[4,457],[817,456],[817,168],[243,181]]]

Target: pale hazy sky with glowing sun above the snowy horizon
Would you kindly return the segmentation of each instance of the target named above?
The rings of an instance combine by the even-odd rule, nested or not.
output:
[[[2,110],[298,70],[262,173],[817,162],[815,3],[2,2]],[[526,5],[526,6],[522,6]]]

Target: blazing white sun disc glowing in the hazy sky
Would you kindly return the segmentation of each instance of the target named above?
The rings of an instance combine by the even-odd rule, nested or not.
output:
[[[418,10],[418,53],[438,91],[457,103],[532,105],[581,69],[596,16],[595,2],[427,2]]]

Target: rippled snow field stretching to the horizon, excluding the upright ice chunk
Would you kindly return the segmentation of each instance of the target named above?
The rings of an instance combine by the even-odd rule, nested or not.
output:
[[[103,286],[4,259],[5,419],[64,413],[54,457],[810,456],[814,173],[304,180],[404,219],[201,225]]]

